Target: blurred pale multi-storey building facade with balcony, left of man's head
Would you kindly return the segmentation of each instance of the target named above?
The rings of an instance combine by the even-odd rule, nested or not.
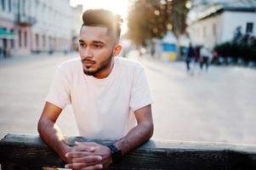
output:
[[[2,40],[11,54],[69,51],[72,44],[70,2],[1,0],[0,28],[14,33],[14,38]]]

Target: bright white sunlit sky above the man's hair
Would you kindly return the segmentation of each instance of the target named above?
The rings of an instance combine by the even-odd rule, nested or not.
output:
[[[113,13],[120,14],[123,20],[121,34],[124,34],[128,30],[126,19],[130,2],[129,0],[71,0],[71,6],[82,4],[83,10],[88,8],[105,8]]]

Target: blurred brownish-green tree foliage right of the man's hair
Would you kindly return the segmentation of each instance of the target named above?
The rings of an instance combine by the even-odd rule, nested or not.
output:
[[[151,38],[162,38],[167,31],[179,37],[185,32],[188,0],[137,0],[128,13],[128,37],[136,46]]]

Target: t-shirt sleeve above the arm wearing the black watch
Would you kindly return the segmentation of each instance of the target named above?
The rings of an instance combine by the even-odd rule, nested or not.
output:
[[[139,110],[146,105],[151,105],[153,98],[151,96],[151,90],[148,79],[145,75],[144,68],[141,68],[134,75],[134,82],[132,85],[130,108],[132,111]]]

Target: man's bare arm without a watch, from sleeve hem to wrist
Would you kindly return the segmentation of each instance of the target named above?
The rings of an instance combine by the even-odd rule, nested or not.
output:
[[[61,111],[62,109],[60,107],[46,102],[42,116],[37,124],[37,130],[43,141],[57,152],[63,161],[68,162],[65,153],[69,152],[71,147],[65,144],[65,139],[60,128],[55,124]]]

